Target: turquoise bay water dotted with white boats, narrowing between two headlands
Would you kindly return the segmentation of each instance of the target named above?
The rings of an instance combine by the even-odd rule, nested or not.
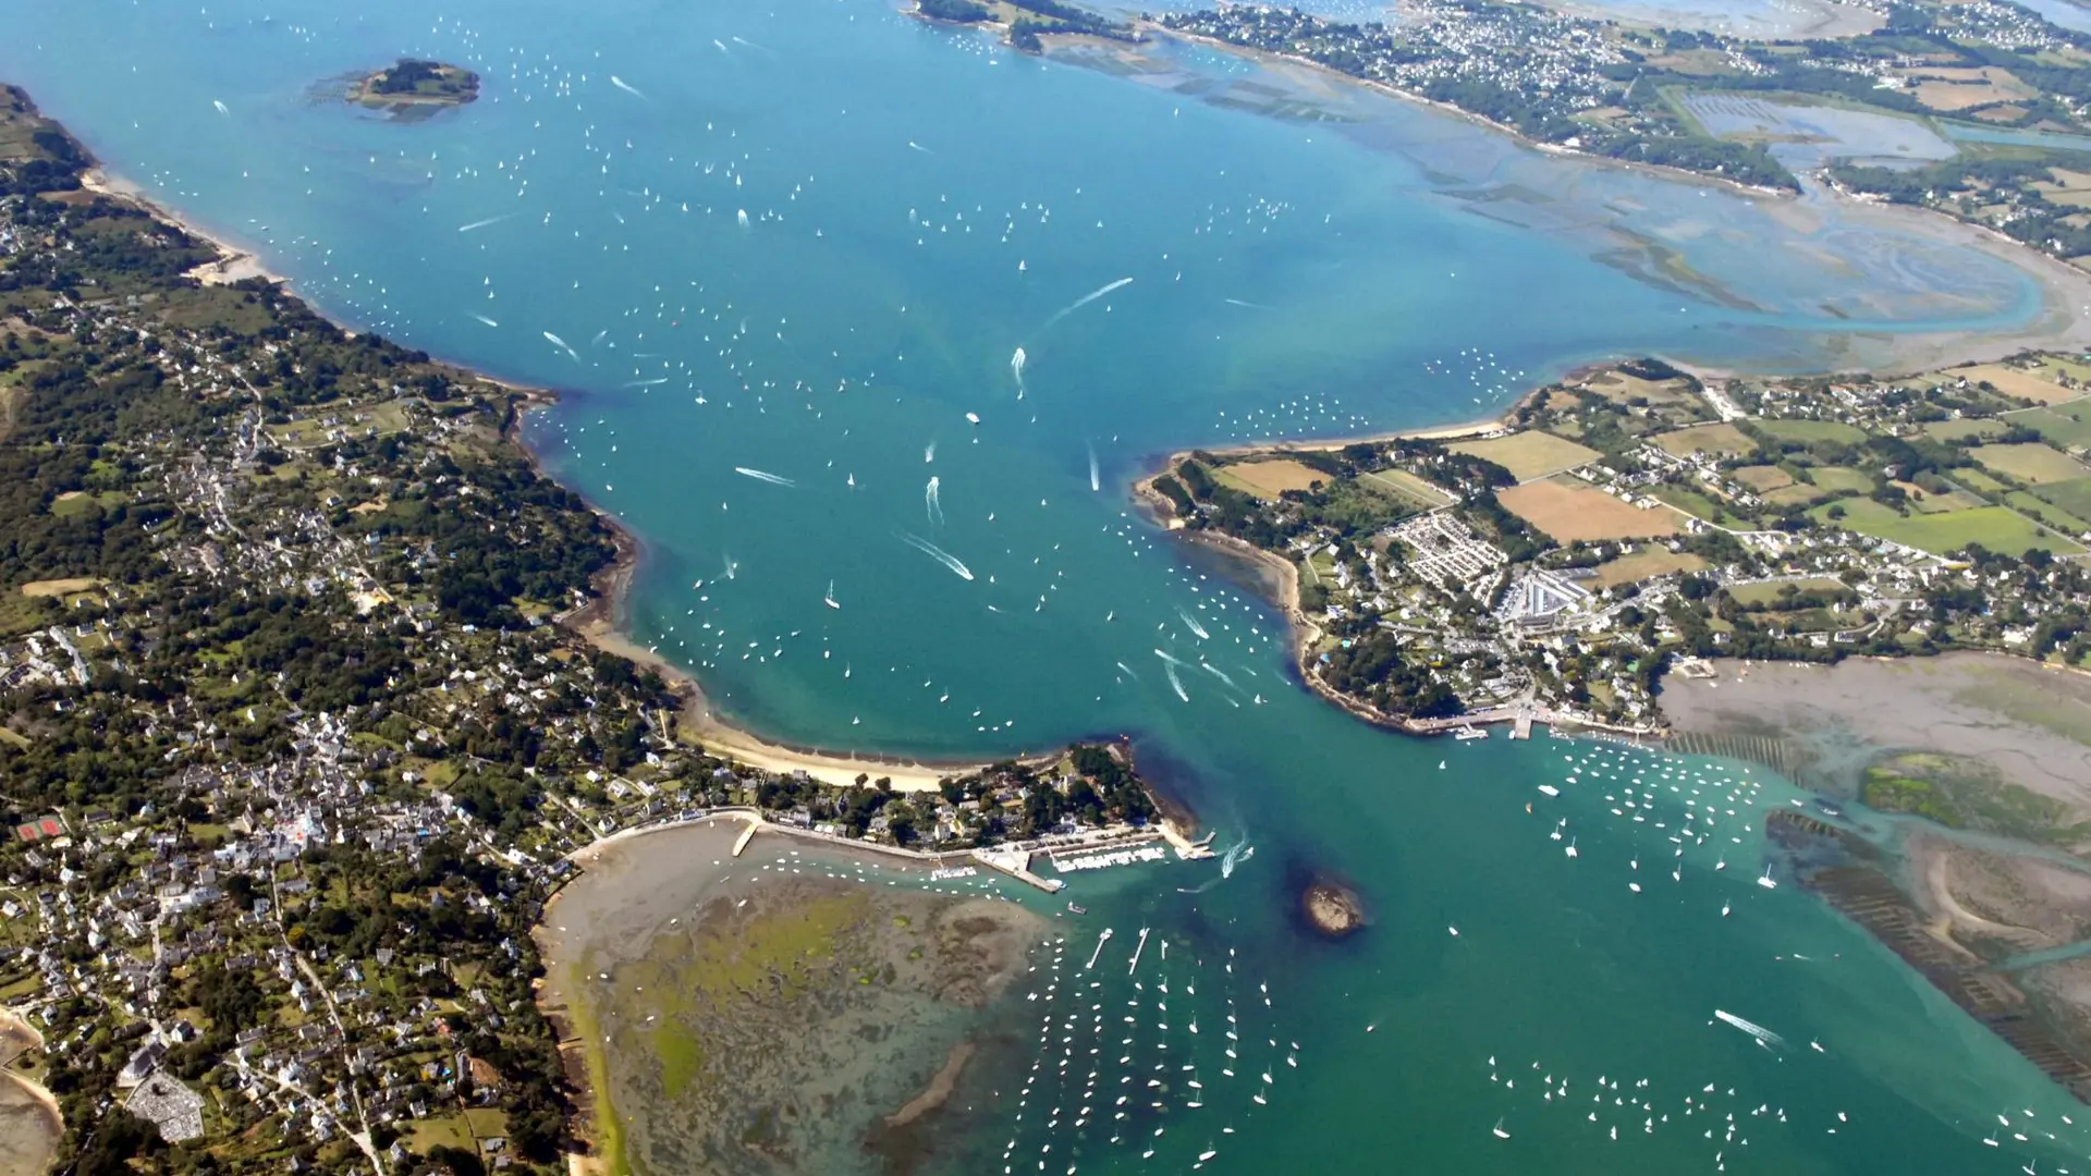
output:
[[[1234,988],[1173,1007],[1202,1021],[1202,1067],[1223,994],[1261,1000],[1250,979],[1271,996],[1261,1040],[1299,1042],[1267,1105],[1225,1103],[1232,1136],[1194,1120],[1219,1094],[1181,1109],[1177,1088],[1146,1163],[1213,1147],[1227,1172],[2045,1172],[2087,1151],[2018,1055],[1792,885],[1752,885],[1756,814],[1786,785],[1756,776],[1756,808],[1677,858],[1690,793],[1604,797],[1633,772],[1740,768],[1639,753],[1625,781],[1568,783],[1562,755],[1589,747],[1363,728],[1286,682],[1269,611],[1129,519],[1121,490],[1173,448],[1478,416],[1621,352],[1792,368],[1888,333],[2012,329],[2039,312],[2012,268],[1217,54],[1112,75],[868,0],[142,13],[23,13],[0,67],[332,314],[571,389],[535,439],[646,538],[636,632],[736,716],[949,755],[1133,732],[1227,843],[1255,843],[1200,894],[1181,891],[1217,866],[1073,883],[1092,908],[1077,946],[1115,927],[1121,969],[1142,923],[1186,990],[1194,960],[1236,952]],[[416,126],[305,100],[395,52],[475,65],[487,98]],[[1290,117],[1238,109],[1276,98]],[[1654,266],[1664,251],[1677,264]],[[1351,879],[1378,923],[1307,940],[1288,896],[1311,868]],[[1598,1076],[1623,1090],[1589,1105]],[[1685,1096],[1710,1109],[1685,1117]],[[1984,1147],[2007,1107],[2068,1149],[2026,1128],[2039,1143]],[[1010,1138],[1037,1163],[1075,1147],[1071,1124],[1014,1113],[985,1111],[945,1168],[991,1168]],[[1087,1136],[1071,1163],[1131,1168],[1144,1147]]]

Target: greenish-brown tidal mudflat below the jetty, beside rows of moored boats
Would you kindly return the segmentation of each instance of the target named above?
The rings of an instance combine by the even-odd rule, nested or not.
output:
[[[905,1170],[1046,921],[717,820],[588,852],[539,940],[606,1172]],[[907,1130],[897,1130],[907,1128]]]

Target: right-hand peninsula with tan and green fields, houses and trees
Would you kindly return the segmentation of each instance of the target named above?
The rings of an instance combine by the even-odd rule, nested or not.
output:
[[[1457,439],[1184,454],[1179,527],[1276,555],[1301,672],[1407,730],[1662,730],[1664,672],[1991,649],[2083,665],[2091,366],[1583,372]]]

